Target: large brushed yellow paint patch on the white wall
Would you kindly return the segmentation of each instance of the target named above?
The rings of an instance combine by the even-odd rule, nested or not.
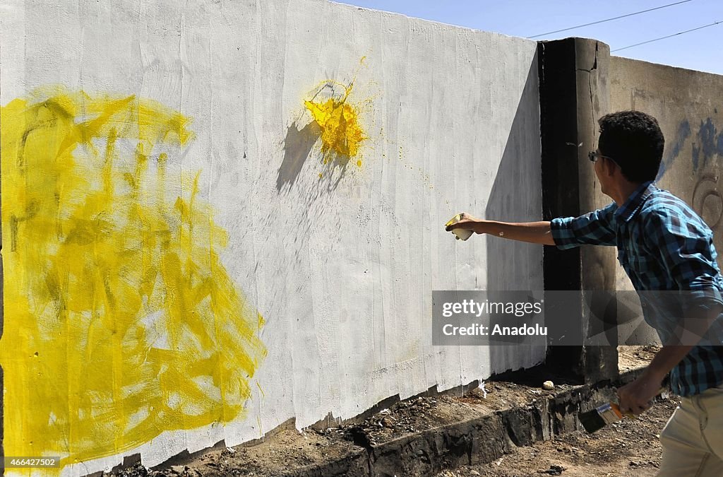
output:
[[[5,455],[67,465],[243,417],[264,321],[181,174],[189,119],[48,90],[0,121]]]

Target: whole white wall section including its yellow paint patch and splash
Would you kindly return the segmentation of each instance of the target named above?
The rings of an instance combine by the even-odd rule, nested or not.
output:
[[[6,455],[155,465],[543,359],[430,332],[432,290],[542,289],[539,246],[442,229],[541,217],[535,42],[323,0],[0,9]]]

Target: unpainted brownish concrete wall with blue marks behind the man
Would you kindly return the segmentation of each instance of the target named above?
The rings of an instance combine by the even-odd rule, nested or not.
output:
[[[613,56],[610,97],[613,111],[637,109],[658,119],[665,136],[658,185],[701,214],[720,253],[723,76]],[[632,288],[620,266],[617,282],[618,290]]]

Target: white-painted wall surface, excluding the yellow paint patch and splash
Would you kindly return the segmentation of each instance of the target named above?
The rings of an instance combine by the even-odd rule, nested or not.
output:
[[[325,0],[0,0],[0,13],[1,104],[61,84],[194,118],[182,166],[203,170],[231,235],[223,261],[267,320],[263,393],[244,421],[127,454],[154,465],[542,361],[544,350],[432,347],[430,332],[432,290],[542,289],[541,247],[442,229],[459,211],[541,218],[534,41]],[[320,181],[315,149],[278,190],[288,127],[311,121],[304,99],[354,75],[350,101],[369,99],[361,168]]]

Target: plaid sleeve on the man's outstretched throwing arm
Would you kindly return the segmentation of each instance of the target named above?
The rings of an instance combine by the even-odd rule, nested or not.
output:
[[[617,245],[613,214],[615,202],[605,208],[579,217],[552,219],[550,230],[555,245],[561,250],[580,245]]]

